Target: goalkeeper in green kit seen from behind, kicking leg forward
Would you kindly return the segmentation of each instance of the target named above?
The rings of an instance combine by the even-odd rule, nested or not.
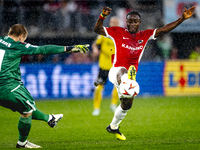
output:
[[[27,141],[32,119],[45,121],[53,128],[63,114],[44,114],[36,108],[34,99],[21,82],[19,68],[21,57],[32,54],[86,53],[89,45],[33,46],[24,43],[27,35],[28,32],[23,25],[15,24],[9,29],[8,36],[0,37],[0,105],[20,113],[19,139],[16,148],[41,148]]]

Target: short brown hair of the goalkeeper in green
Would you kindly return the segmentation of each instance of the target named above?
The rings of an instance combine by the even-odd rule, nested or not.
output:
[[[26,30],[26,28],[23,25],[14,24],[9,29],[8,35],[12,35],[12,36],[15,36],[15,37],[19,37],[20,35],[23,35],[24,38],[26,38],[27,35],[28,35],[28,31]]]

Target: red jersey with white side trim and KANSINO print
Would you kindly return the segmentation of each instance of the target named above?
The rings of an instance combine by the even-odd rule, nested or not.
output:
[[[134,65],[138,70],[138,64],[144,52],[147,42],[155,39],[156,29],[138,31],[131,34],[126,28],[104,27],[106,37],[115,44],[114,67],[125,67],[127,70]]]

